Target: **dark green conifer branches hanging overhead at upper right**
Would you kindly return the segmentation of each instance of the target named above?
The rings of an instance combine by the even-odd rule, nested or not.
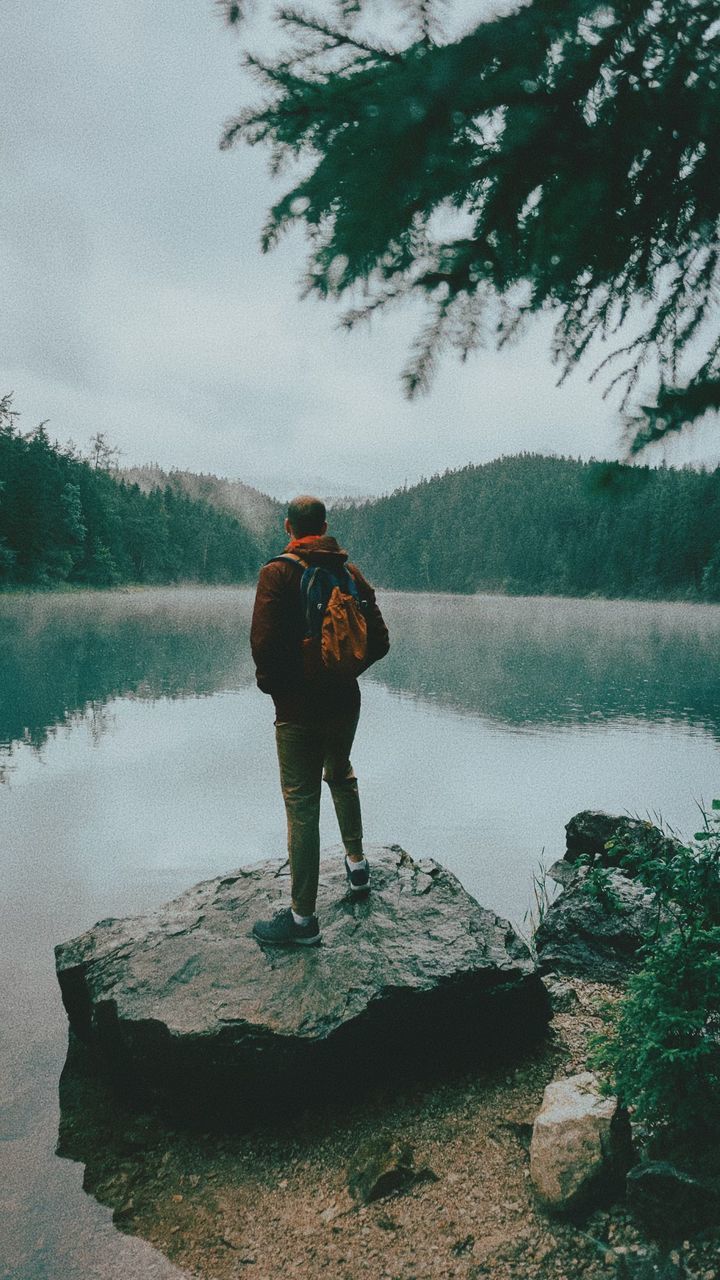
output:
[[[623,407],[652,383],[635,451],[720,408],[717,0],[530,0],[454,40],[432,0],[400,3],[397,47],[345,3],[282,10],[290,51],[247,58],[266,97],[222,145],[300,161],[264,247],[304,224],[307,288],[363,292],[348,325],[423,297],[411,394],[443,347],[502,344],[544,310],[562,376],[610,339],[594,372]]]

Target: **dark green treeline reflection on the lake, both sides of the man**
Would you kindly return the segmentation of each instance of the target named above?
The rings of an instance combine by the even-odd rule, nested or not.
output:
[[[720,608],[380,593],[372,678],[510,726],[683,721],[720,736]],[[113,698],[250,686],[252,591],[152,588],[0,598],[0,750],[41,746]]]

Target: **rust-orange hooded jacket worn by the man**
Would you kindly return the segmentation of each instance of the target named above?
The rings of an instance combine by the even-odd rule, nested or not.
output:
[[[334,538],[327,535],[302,538],[286,547],[304,564],[320,564],[337,572],[347,563]],[[352,573],[368,622],[368,660],[363,669],[383,658],[389,640],[375,593],[355,564]],[[360,707],[360,689],[355,677],[332,681],[309,681],[302,671],[302,639],[305,617],[300,596],[302,566],[292,561],[270,561],[260,570],[250,644],[255,660],[258,686],[270,694],[277,721],[311,723],[325,716],[352,714]]]

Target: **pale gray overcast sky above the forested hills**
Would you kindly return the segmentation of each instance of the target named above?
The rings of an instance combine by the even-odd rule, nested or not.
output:
[[[502,355],[447,358],[407,403],[415,307],[346,334],[299,300],[302,237],[259,250],[282,178],[261,148],[218,148],[258,90],[211,0],[0,10],[0,393],[23,429],[49,419],[82,447],[102,430],[123,465],[278,497],[382,493],[520,449],[619,454],[618,402],[589,369],[555,387],[546,321]],[[715,463],[717,428],[662,456]]]

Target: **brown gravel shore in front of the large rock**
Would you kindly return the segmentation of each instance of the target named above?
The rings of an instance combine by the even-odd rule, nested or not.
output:
[[[536,1204],[528,1147],[544,1085],[585,1068],[588,1036],[616,998],[600,984],[573,987],[578,1002],[519,1065],[401,1096],[354,1098],[348,1087],[342,1108],[277,1130],[181,1133],[111,1112],[105,1097],[92,1139],[82,1135],[86,1189],[120,1230],[202,1280],[720,1280],[720,1230],[662,1252],[621,1204],[580,1228]],[[410,1143],[428,1174],[357,1207],[347,1165],[375,1135]]]

